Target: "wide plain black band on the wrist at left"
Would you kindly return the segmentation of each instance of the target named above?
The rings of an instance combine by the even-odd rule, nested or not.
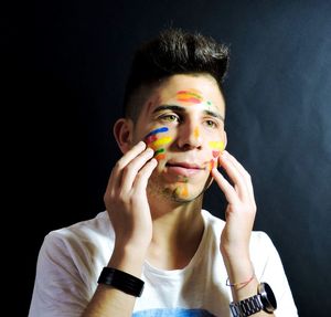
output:
[[[141,296],[145,285],[143,281],[138,277],[113,267],[103,268],[98,283],[113,286],[136,297]]]

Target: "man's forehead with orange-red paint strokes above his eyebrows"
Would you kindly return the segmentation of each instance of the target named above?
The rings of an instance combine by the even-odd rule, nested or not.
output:
[[[154,88],[142,113],[150,113],[161,104],[194,105],[207,103],[224,114],[225,103],[216,81],[210,75],[174,75]]]

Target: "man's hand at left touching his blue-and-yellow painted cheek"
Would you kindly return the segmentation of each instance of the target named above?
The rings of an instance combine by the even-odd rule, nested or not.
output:
[[[146,188],[158,161],[153,150],[138,142],[114,167],[104,201],[116,234],[118,250],[147,250],[152,222]]]

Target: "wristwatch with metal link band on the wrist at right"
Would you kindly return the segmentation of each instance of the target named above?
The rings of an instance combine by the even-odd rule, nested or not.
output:
[[[246,317],[260,310],[271,314],[276,308],[276,297],[267,283],[260,283],[258,285],[257,295],[229,304],[229,309],[234,317]]]

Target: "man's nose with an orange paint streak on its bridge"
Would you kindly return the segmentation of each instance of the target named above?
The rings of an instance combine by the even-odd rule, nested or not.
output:
[[[188,121],[181,126],[178,136],[178,147],[184,150],[201,149],[202,138],[199,125]]]

